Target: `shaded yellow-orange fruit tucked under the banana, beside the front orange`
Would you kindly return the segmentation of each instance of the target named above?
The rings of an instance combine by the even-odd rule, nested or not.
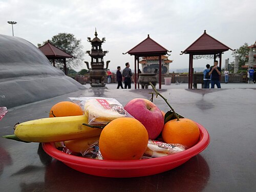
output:
[[[77,153],[84,153],[93,143],[99,140],[99,136],[64,141],[66,147]]]

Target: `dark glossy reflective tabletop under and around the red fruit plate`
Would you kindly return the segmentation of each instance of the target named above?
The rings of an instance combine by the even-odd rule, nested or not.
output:
[[[1,136],[13,125],[48,117],[52,105],[76,96],[114,97],[125,105],[150,98],[149,90],[90,89],[9,109],[0,121]],[[138,178],[104,178],[83,174],[48,156],[39,143],[0,138],[0,191],[255,191],[256,89],[161,90],[181,115],[202,124],[209,146],[183,165]],[[163,111],[168,106],[159,97]]]

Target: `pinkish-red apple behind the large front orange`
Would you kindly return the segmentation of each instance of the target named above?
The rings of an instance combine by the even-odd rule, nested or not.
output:
[[[148,139],[156,139],[163,130],[163,114],[150,100],[133,99],[124,106],[124,109],[145,126]]]

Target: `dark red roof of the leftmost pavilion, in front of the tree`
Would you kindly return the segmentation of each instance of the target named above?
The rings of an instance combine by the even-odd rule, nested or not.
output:
[[[42,53],[46,55],[46,57],[54,57],[54,58],[71,58],[72,55],[62,51],[61,49],[55,47],[54,45],[47,42],[45,45],[39,47]]]

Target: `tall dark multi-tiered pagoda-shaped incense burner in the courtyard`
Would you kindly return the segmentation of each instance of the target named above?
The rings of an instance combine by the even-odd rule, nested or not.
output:
[[[89,66],[89,62],[84,61],[87,65],[87,68],[90,70],[90,83],[91,87],[104,87],[104,79],[106,76],[106,70],[109,67],[109,62],[106,61],[106,68],[104,68],[104,61],[103,57],[108,53],[109,51],[103,51],[101,48],[101,44],[105,42],[105,37],[103,37],[101,40],[97,37],[97,31],[95,29],[95,37],[91,40],[90,37],[88,37],[88,41],[91,42],[92,49],[91,51],[87,51],[91,56],[91,68]]]

